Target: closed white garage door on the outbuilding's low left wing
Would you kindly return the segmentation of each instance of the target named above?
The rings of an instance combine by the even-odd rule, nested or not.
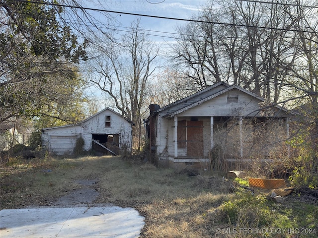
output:
[[[76,143],[76,136],[51,135],[50,152],[56,155],[72,154]]]

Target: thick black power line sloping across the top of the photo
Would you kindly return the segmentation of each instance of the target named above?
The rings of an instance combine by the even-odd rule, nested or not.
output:
[[[123,11],[112,11],[112,10],[83,7],[83,6],[71,6],[71,5],[65,5],[65,4],[56,4],[56,3],[50,3],[50,2],[39,2],[39,1],[29,1],[29,0],[13,0],[13,1],[28,2],[28,3],[35,3],[35,4],[44,4],[44,5],[51,5],[51,6],[70,7],[70,8],[77,8],[77,9],[81,9],[81,10],[103,11],[103,12],[110,12],[110,13],[117,13],[117,14],[153,17],[153,18],[160,18],[160,19],[166,19],[166,20],[188,21],[188,22],[218,24],[218,25],[227,25],[227,26],[240,26],[240,27],[267,29],[267,30],[282,30],[282,31],[304,32],[304,33],[316,33],[315,31],[297,30],[297,29],[290,29],[290,28],[252,26],[252,25],[235,24],[235,23],[224,23],[224,22],[203,21],[203,20],[184,19],[184,18],[175,18],[175,17],[155,16],[155,15],[147,15],[147,14],[139,14],[139,13],[131,13],[131,12],[123,12]],[[248,0],[246,0],[246,1],[248,1]]]

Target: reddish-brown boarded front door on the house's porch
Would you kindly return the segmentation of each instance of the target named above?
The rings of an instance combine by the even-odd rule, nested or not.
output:
[[[203,156],[203,121],[187,121],[187,156]]]

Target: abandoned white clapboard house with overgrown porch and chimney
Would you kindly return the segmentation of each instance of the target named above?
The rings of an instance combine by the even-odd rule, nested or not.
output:
[[[288,110],[224,82],[149,109],[145,123],[152,160],[170,167],[270,160],[289,137]]]

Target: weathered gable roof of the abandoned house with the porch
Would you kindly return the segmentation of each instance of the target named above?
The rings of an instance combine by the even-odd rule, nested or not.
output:
[[[256,94],[238,86],[238,85],[232,85],[230,86],[229,84],[225,83],[225,82],[219,82],[216,83],[204,90],[201,90],[193,95],[190,95],[186,98],[183,98],[179,101],[176,101],[174,103],[171,103],[163,108],[158,109],[157,111],[154,112],[154,114],[157,114],[159,112],[163,112],[164,115],[163,117],[174,117],[175,115],[178,115],[182,112],[185,112],[195,106],[198,106],[208,100],[211,100],[213,98],[216,98],[218,96],[220,96],[221,94],[224,94],[226,92],[229,92],[233,89],[237,89],[243,93],[246,93],[262,102],[265,101],[264,98],[257,96]],[[281,111],[284,112],[289,112],[287,109],[279,106],[279,105],[275,105],[273,107],[278,108]]]

